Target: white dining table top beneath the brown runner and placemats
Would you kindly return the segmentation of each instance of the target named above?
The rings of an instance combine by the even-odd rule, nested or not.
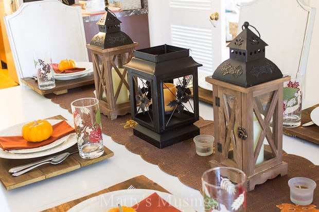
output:
[[[0,98],[0,130],[15,124],[56,115],[62,115],[67,120],[73,119],[72,114],[66,109],[24,85],[1,89]],[[212,120],[212,106],[200,102],[200,116],[203,119]],[[12,190],[6,190],[1,185],[0,211],[41,211],[139,175],[144,175],[160,184],[172,195],[189,201],[197,211],[203,211],[203,200],[199,190],[184,185],[177,177],[166,174],[157,165],[144,161],[139,155],[130,152],[124,145],[112,141],[105,134],[103,134],[103,142],[114,152],[113,157]],[[319,145],[317,144],[283,135],[283,150],[319,165]]]

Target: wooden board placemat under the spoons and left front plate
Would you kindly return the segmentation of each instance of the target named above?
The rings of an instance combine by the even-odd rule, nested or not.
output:
[[[64,119],[61,115],[56,117],[51,117],[49,119]],[[69,147],[61,152],[52,154],[58,155],[62,152],[73,152],[78,148],[78,145],[75,144],[72,147]],[[51,155],[51,156],[52,156]],[[57,165],[45,164],[39,166],[38,168],[33,169],[32,171],[27,172],[18,177],[13,177],[8,171],[10,168],[15,166],[20,166],[23,164],[31,163],[33,161],[38,161],[40,159],[49,157],[40,157],[40,158],[31,158],[31,159],[4,159],[0,158],[0,181],[5,186],[7,190],[11,190],[14,188],[22,187],[34,182],[38,182],[41,180],[45,180],[47,178],[55,177],[62,175],[66,172],[73,171],[79,169],[83,166],[87,166],[93,163],[97,163],[99,161],[110,158],[114,155],[113,151],[104,146],[104,153],[99,158],[95,159],[82,159],[78,153],[74,153],[68,156],[62,163]]]

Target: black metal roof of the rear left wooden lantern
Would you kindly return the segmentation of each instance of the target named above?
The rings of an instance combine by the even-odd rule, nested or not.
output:
[[[90,44],[103,49],[132,44],[132,39],[121,31],[121,21],[108,7],[105,7],[105,11],[107,12],[96,23],[99,25],[99,32],[93,36]]]

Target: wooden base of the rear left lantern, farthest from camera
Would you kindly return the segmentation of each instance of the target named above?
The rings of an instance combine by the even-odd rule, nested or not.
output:
[[[103,100],[99,100],[100,111],[103,115],[106,115],[109,119],[114,120],[118,115],[126,115],[131,113],[131,103],[125,102],[115,105],[114,110],[110,110],[107,103]]]

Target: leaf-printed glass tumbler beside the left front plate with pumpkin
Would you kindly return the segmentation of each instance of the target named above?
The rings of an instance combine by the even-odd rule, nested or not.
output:
[[[104,153],[101,114],[96,98],[82,98],[71,103],[81,158],[98,158]]]

